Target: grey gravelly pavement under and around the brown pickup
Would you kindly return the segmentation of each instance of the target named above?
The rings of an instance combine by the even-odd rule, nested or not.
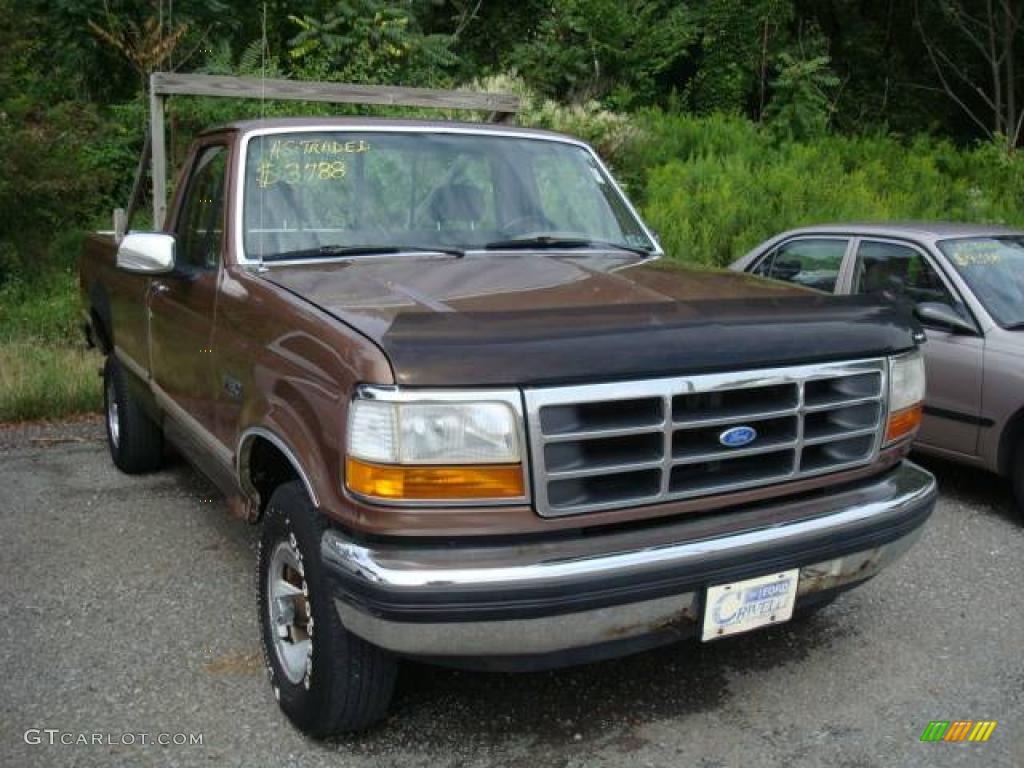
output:
[[[261,667],[255,528],[183,464],[119,474],[95,421],[0,429],[0,766],[1021,766],[1024,527],[1000,483],[929,466],[918,546],[813,618],[550,673],[409,664],[387,722],[317,743]],[[920,741],[954,719],[998,725]]]

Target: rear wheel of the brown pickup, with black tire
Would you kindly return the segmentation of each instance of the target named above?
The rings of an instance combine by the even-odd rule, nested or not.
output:
[[[124,370],[114,355],[103,366],[103,413],[106,446],[115,466],[131,475],[160,469],[164,433],[131,393]]]

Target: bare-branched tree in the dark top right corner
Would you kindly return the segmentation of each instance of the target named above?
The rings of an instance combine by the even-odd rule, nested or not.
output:
[[[1024,80],[1018,74],[1017,34],[1024,1],[933,0],[915,5],[915,25],[942,90],[990,139],[1008,150],[1021,143]],[[944,25],[943,38],[929,20]],[[950,40],[951,42],[946,42]]]

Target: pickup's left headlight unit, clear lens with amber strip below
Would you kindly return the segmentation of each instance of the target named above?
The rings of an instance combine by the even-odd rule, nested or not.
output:
[[[353,400],[345,461],[348,488],[395,501],[523,498],[516,400],[513,395],[483,397]]]

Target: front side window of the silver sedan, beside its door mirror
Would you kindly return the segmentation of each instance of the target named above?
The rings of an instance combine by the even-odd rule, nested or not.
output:
[[[957,303],[921,252],[897,243],[860,244],[853,290],[860,294],[905,296],[915,303],[937,301],[949,306]]]

